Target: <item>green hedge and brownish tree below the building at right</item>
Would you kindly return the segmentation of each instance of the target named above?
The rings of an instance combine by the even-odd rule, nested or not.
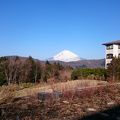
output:
[[[76,79],[96,79],[108,82],[120,81],[120,58],[113,58],[107,69],[104,68],[77,68],[74,69],[71,78]]]

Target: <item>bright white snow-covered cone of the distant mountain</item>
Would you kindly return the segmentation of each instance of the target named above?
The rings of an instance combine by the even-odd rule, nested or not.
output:
[[[73,61],[79,61],[81,59],[75,53],[73,53],[69,50],[63,50],[62,52],[53,56],[52,60],[63,61],[63,62],[73,62]]]

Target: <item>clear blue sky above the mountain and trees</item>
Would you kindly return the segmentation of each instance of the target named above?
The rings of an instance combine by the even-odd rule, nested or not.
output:
[[[0,56],[49,58],[67,49],[104,58],[120,39],[120,0],[0,0]]]

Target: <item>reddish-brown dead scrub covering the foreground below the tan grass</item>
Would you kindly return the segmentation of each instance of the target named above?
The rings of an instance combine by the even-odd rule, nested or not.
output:
[[[9,120],[78,120],[91,112],[120,104],[120,85],[64,91],[60,99],[41,102],[37,94],[14,98],[0,105],[0,119]]]

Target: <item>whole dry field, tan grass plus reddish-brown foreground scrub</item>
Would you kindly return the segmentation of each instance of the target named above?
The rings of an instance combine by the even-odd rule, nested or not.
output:
[[[86,115],[120,105],[120,85],[99,81],[77,80],[25,89],[13,86],[6,90],[9,97],[1,99],[4,102],[0,104],[0,119],[80,120]],[[52,93],[56,90],[62,92],[59,99],[51,96],[45,101],[38,99],[38,92]],[[0,91],[5,95],[5,91]]]

